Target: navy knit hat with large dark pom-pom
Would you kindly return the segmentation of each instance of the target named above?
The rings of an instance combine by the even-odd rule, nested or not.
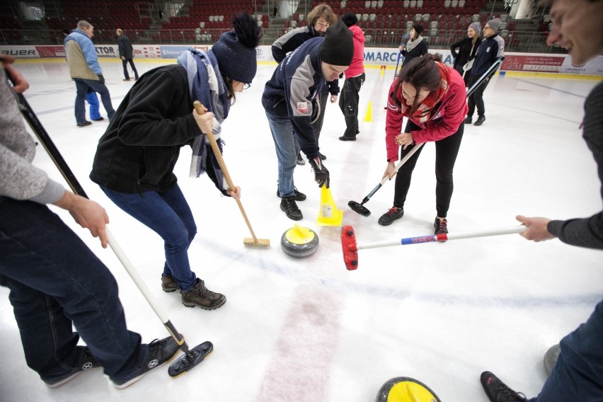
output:
[[[210,52],[216,56],[224,76],[251,84],[258,70],[255,47],[260,42],[260,28],[247,13],[238,14],[232,23],[234,30],[223,33]]]

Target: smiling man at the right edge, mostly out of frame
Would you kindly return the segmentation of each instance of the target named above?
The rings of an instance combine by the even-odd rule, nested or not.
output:
[[[547,45],[567,49],[576,66],[603,53],[603,35],[592,35],[599,32],[603,21],[603,1],[544,0],[541,5],[551,6],[553,19]],[[584,110],[582,137],[597,163],[603,199],[603,83],[587,96]],[[586,218],[561,220],[518,215],[517,220],[527,226],[521,235],[528,240],[558,238],[572,246],[603,250],[603,211]],[[518,394],[491,372],[481,374],[481,384],[493,402],[603,401],[603,300],[585,323],[546,352],[544,363],[551,372],[536,398]]]

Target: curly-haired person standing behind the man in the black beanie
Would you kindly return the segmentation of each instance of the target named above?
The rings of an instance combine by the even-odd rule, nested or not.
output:
[[[318,4],[318,6],[312,8],[312,11],[308,13],[308,25],[290,30],[272,43],[272,57],[274,57],[277,63],[282,62],[289,52],[296,50],[297,47],[306,42],[306,40],[324,36],[328,27],[335,22],[337,22],[337,16],[333,13],[333,8],[324,3]],[[338,93],[339,81],[338,79],[335,79],[329,82],[328,86],[324,86],[322,93],[319,93],[318,96],[316,96],[315,103],[316,108],[318,108],[318,114],[316,115],[316,120],[312,122],[316,141],[318,141],[318,137],[320,137],[323,128],[327,99],[330,99],[331,103],[335,103],[337,101]],[[325,160],[326,156],[321,154],[321,159]],[[305,163],[302,154],[297,154],[297,164],[304,165]],[[298,201],[306,199],[306,195],[302,193],[299,194]]]

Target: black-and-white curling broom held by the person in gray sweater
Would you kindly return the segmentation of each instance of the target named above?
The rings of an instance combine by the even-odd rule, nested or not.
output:
[[[8,85],[13,87],[13,82],[10,79],[10,75],[7,73],[6,76],[8,77]],[[63,156],[54,145],[54,142],[52,142],[52,139],[50,139],[50,136],[42,126],[42,123],[40,120],[38,120],[38,117],[35,115],[35,113],[33,113],[29,103],[25,101],[25,97],[19,93],[15,93],[15,96],[19,110],[21,110],[21,114],[30,125],[31,129],[35,133],[35,136],[40,140],[40,143],[47,151],[48,155],[54,162],[54,165],[57,166],[63,178],[67,181],[67,184],[69,184],[71,190],[81,197],[88,198],[88,195],[86,195],[84,192],[84,189],[81,187],[78,180],[74,176],[74,173],[71,171],[71,168],[69,168],[67,162],[63,159]],[[134,280],[134,283],[140,292],[142,292],[144,298],[147,299],[147,302],[149,302],[151,308],[155,311],[155,314],[159,317],[163,325],[166,326],[166,329],[170,333],[173,340],[176,341],[180,347],[180,350],[184,352],[183,356],[179,357],[178,360],[170,365],[168,373],[171,375],[171,377],[178,377],[181,374],[185,374],[185,372],[188,372],[190,369],[193,369],[193,367],[202,362],[205,357],[214,350],[214,345],[212,345],[212,343],[209,341],[205,341],[204,343],[195,346],[193,349],[188,348],[183,336],[176,331],[176,328],[171,323],[167,314],[165,311],[163,311],[163,309],[161,309],[161,306],[159,306],[155,297],[149,290],[149,287],[147,287],[147,285],[144,283],[144,280],[142,280],[142,277],[134,268],[134,265],[132,265],[130,259],[127,258],[127,255],[125,255],[120,245],[117,243],[117,241],[115,241],[113,234],[111,234],[107,227],[105,227],[105,232],[107,234],[109,246],[115,255],[117,255],[117,258],[120,260],[125,270],[127,270],[127,273],[130,274],[130,277],[132,277],[132,280]]]

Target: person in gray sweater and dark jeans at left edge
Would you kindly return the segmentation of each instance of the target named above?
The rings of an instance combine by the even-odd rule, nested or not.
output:
[[[107,247],[105,209],[32,165],[35,142],[6,73],[17,93],[29,84],[12,57],[0,55],[0,62],[0,285],[11,291],[25,361],[50,388],[101,366],[116,388],[125,388],[171,360],[178,345],[171,337],[147,345],[128,331],[115,278],[47,207],[66,209]],[[80,337],[86,346],[78,345]]]

